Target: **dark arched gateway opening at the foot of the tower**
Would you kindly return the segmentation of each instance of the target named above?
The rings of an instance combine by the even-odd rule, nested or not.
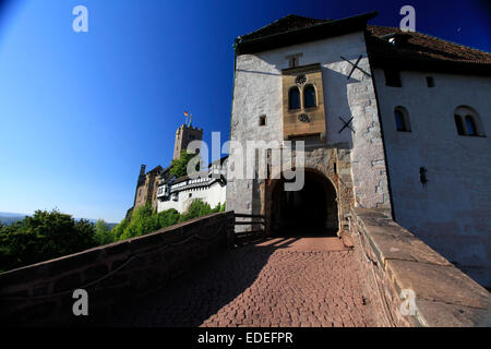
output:
[[[336,236],[336,190],[324,174],[306,169],[304,185],[297,192],[286,192],[284,180],[276,180],[271,200],[274,236]]]

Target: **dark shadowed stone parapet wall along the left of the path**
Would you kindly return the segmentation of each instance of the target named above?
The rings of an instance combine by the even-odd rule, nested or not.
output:
[[[115,306],[166,287],[227,248],[233,212],[0,274],[0,324],[94,325]],[[88,316],[74,316],[75,289],[88,293]]]

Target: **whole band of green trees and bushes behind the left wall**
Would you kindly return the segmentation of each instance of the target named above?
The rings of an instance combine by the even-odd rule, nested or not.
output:
[[[188,210],[176,209],[160,213],[151,205],[133,210],[131,219],[123,219],[112,230],[103,220],[94,225],[88,220],[75,221],[72,216],[37,210],[10,226],[0,225],[0,273],[80,252],[96,245],[141,237],[189,219],[225,210],[225,203],[212,208],[201,200],[191,203]]]

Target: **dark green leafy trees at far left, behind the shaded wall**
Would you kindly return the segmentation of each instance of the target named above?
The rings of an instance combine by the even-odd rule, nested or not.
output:
[[[95,228],[88,220],[75,222],[58,210],[36,210],[0,230],[0,269],[56,258],[96,245]]]

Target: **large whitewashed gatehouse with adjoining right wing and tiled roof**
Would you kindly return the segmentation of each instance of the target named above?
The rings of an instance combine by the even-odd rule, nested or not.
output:
[[[351,207],[383,210],[491,287],[491,53],[375,15],[288,15],[236,39],[229,168],[248,141],[304,141],[284,164],[303,156],[304,185],[229,178],[227,209],[271,234],[339,234]]]

